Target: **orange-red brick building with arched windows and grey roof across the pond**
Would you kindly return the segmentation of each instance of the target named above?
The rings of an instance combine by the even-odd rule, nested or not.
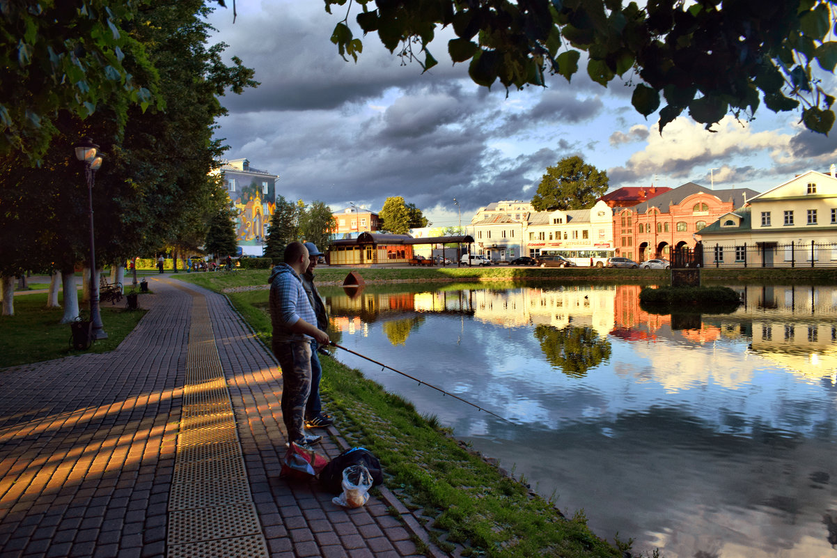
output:
[[[758,194],[747,188],[712,190],[689,182],[633,207],[615,208],[616,254],[635,261],[670,260],[672,248],[694,248],[692,235]]]

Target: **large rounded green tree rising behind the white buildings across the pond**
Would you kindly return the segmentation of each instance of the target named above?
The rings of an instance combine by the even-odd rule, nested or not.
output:
[[[578,156],[565,157],[547,167],[531,206],[537,211],[584,209],[608,191],[608,173],[584,163]]]

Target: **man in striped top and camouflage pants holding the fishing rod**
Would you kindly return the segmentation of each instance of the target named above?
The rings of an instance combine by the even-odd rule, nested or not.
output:
[[[311,354],[315,343],[326,345],[328,334],[316,325],[316,313],[302,286],[309,266],[308,250],[301,242],[285,247],[283,263],[270,274],[271,349],[282,368],[282,421],[288,442],[308,446],[321,436],[306,436],[305,411],[311,393]]]

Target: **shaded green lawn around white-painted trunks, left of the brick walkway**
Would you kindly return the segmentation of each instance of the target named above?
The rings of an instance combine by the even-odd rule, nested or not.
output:
[[[141,301],[140,298],[140,304]],[[96,341],[86,351],[76,351],[69,348],[69,323],[59,323],[64,310],[49,308],[46,302],[46,293],[15,297],[14,315],[0,316],[0,339],[3,340],[0,344],[0,368],[84,352],[111,351],[131,333],[146,313],[145,310],[126,311],[125,302],[116,306],[102,303],[100,312],[108,338]]]

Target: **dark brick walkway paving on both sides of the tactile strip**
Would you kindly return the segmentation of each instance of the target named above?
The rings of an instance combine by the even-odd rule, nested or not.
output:
[[[167,537],[198,298],[208,307],[268,555],[416,556],[411,535],[426,542],[427,532],[387,489],[346,510],[316,483],[279,478],[280,371],[226,297],[167,277],[151,288],[154,295],[140,298],[149,312],[115,351],[0,370],[0,558],[182,555]],[[333,457],[347,444],[328,432],[320,450]],[[223,545],[215,548],[205,555],[222,556]]]

